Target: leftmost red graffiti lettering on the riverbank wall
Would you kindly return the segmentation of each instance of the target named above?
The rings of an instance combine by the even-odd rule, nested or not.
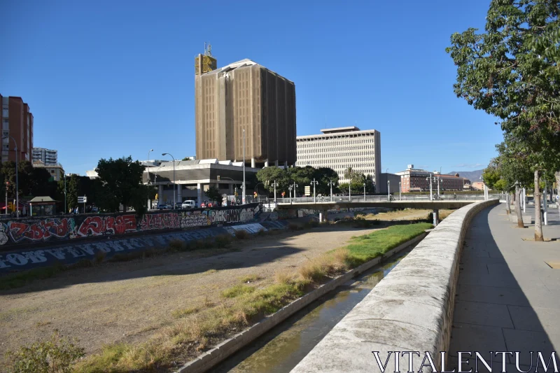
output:
[[[15,243],[22,240],[46,241],[51,237],[62,239],[68,237],[76,226],[73,218],[10,221],[8,224],[10,237]]]

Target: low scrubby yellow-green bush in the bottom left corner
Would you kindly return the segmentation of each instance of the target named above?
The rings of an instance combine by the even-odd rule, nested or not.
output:
[[[8,352],[8,372],[13,373],[70,373],[76,360],[85,356],[85,350],[66,337],[54,332],[49,340],[21,346]]]

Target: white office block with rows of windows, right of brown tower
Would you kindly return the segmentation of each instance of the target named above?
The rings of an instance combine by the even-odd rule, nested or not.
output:
[[[340,183],[347,183],[344,171],[351,167],[359,174],[371,175],[375,185],[381,176],[381,134],[358,127],[321,129],[323,134],[297,136],[296,166],[330,167]]]

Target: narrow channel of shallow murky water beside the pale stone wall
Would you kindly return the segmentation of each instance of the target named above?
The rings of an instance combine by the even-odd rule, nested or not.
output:
[[[216,373],[288,373],[416,245],[388,258],[290,316],[215,367]]]

